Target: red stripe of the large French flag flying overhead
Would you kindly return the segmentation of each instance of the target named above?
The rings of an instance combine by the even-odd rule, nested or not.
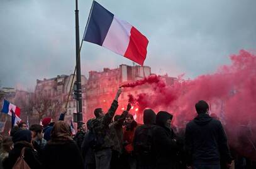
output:
[[[131,36],[125,57],[143,66],[147,56],[148,39],[136,28],[131,28]]]

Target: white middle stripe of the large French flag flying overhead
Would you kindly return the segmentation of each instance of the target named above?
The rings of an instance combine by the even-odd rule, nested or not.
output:
[[[131,28],[131,24],[114,16],[103,46],[123,56],[130,42]]]

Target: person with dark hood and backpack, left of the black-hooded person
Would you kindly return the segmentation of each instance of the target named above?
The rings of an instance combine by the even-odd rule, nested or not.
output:
[[[153,129],[155,128],[155,112],[144,110],[143,123],[135,130],[133,147],[136,156],[137,169],[155,168],[155,150],[153,148]]]

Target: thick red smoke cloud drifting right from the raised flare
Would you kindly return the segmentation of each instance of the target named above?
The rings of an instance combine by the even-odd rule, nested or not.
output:
[[[140,110],[169,111],[181,128],[196,115],[195,103],[207,101],[211,113],[225,126],[231,147],[256,160],[256,55],[241,50],[230,59],[230,65],[221,66],[213,74],[180,80],[173,86],[164,85],[159,76],[150,76],[123,87],[152,85],[153,94],[130,95],[130,101]]]

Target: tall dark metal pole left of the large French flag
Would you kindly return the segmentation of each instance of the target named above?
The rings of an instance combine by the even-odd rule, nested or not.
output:
[[[77,123],[82,123],[82,87],[81,87],[81,63],[80,63],[80,40],[79,40],[79,10],[78,2],[75,0],[75,49],[76,49],[76,68],[77,68]]]

